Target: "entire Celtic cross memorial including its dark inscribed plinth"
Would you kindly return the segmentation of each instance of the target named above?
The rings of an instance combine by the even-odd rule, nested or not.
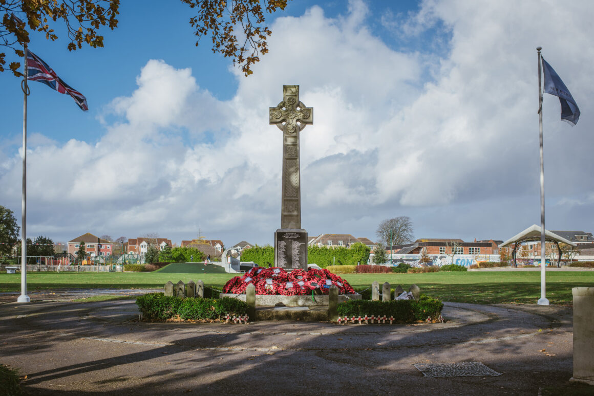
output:
[[[307,270],[307,231],[301,228],[299,132],[314,122],[314,109],[299,101],[299,85],[283,85],[283,101],[270,107],[270,123],[283,131],[280,229],[274,233],[274,266]]]

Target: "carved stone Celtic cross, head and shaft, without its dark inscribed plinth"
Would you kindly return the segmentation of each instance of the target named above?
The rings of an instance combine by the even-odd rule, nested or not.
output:
[[[299,101],[299,85],[283,85],[283,101],[270,107],[270,123],[283,131],[281,229],[301,229],[299,132],[314,122],[314,109]]]

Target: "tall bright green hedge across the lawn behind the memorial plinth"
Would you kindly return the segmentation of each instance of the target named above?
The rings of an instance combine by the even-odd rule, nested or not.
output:
[[[367,264],[369,259],[369,248],[363,243],[353,243],[350,248],[336,246],[308,246],[307,264],[317,264],[322,268],[328,265],[357,265]],[[241,252],[241,261],[253,261],[261,267],[267,267],[268,263],[274,264],[274,246],[254,246]]]

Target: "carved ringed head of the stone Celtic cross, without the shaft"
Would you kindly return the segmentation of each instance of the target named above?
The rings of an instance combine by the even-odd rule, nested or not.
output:
[[[299,85],[283,85],[283,101],[270,107],[270,123],[285,134],[295,134],[314,123],[313,107],[305,107],[299,100]]]

